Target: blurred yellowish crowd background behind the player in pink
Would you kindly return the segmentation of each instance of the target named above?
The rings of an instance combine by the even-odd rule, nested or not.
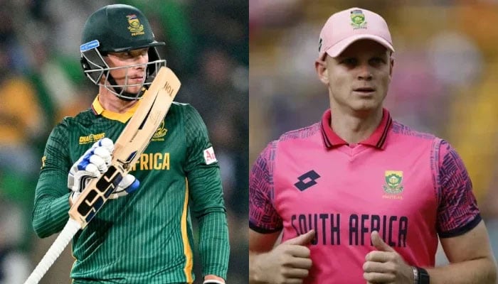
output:
[[[351,6],[386,18],[396,49],[386,107],[455,146],[498,258],[498,1],[251,0],[250,165],[269,141],[329,107],[314,71],[319,33]]]

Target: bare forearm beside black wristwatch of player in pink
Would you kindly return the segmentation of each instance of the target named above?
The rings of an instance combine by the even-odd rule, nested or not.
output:
[[[497,283],[497,265],[493,258],[477,258],[426,269],[430,284]]]

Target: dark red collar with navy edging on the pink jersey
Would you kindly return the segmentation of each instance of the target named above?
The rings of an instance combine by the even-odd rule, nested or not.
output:
[[[334,148],[341,145],[348,145],[341,137],[339,137],[332,127],[330,127],[330,119],[332,118],[332,112],[330,109],[324,112],[322,116],[322,138],[324,139],[325,146],[327,148]],[[364,144],[368,146],[373,146],[375,148],[383,149],[386,148],[386,137],[393,124],[393,119],[391,114],[387,109],[382,109],[382,120],[377,126],[377,129],[373,131],[369,138],[361,141],[359,144]]]

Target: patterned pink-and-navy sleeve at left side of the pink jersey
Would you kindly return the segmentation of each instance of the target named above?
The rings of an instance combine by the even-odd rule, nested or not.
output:
[[[277,141],[260,153],[249,175],[249,228],[261,234],[283,228],[282,218],[273,206],[273,165]]]

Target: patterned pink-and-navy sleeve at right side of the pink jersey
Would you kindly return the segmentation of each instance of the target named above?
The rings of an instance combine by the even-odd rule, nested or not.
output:
[[[447,141],[440,141],[435,158],[438,234],[441,238],[465,234],[481,221],[472,181],[460,155]]]

